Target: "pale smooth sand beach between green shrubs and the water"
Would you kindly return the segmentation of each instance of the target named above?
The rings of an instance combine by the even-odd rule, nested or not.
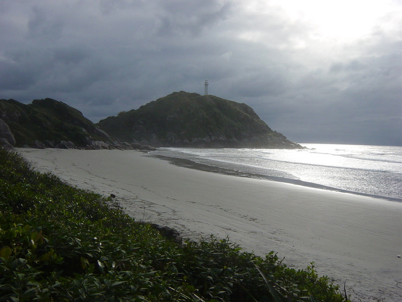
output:
[[[172,165],[133,150],[18,149],[40,171],[109,196],[185,238],[315,262],[355,300],[402,301],[402,203]]]

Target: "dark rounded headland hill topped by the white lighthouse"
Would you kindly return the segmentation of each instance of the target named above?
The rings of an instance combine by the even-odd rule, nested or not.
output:
[[[153,146],[302,148],[246,104],[185,91],[96,125],[119,140]]]

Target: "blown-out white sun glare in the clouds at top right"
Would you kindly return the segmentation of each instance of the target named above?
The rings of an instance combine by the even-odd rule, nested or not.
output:
[[[303,21],[316,39],[355,40],[372,32],[378,20],[400,12],[398,0],[255,0],[247,4],[249,12],[278,13],[293,22]]]

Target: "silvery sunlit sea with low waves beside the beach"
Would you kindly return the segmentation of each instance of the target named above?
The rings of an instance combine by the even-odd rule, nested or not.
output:
[[[402,146],[300,143],[304,149],[160,148],[173,164],[402,202]]]

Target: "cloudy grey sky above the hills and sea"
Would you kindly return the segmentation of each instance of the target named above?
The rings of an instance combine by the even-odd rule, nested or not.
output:
[[[174,91],[298,143],[402,145],[401,0],[2,0],[0,99],[93,122]]]

